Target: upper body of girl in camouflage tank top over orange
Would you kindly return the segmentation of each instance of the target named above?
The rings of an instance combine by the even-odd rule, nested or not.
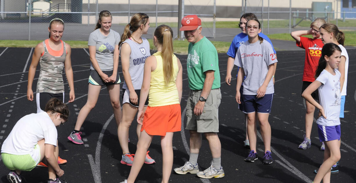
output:
[[[28,69],[27,99],[29,101],[33,101],[32,83],[38,63],[40,63],[40,76],[38,77],[36,92],[51,94],[64,93],[62,76],[64,68],[70,88],[69,102],[74,101],[73,70],[70,60],[71,49],[69,44],[61,40],[63,30],[63,21],[61,19],[53,19],[48,27],[49,39],[37,44],[35,48],[31,65]],[[37,104],[37,108],[38,107],[39,105]]]

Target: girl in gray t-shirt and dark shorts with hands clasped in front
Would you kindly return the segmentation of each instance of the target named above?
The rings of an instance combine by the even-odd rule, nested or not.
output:
[[[121,121],[120,106],[120,76],[117,68],[119,66],[119,41],[120,34],[111,30],[111,13],[107,10],[101,11],[95,31],[90,33],[88,46],[90,54],[90,76],[88,82],[87,103],[80,109],[74,130],[68,139],[75,144],[83,144],[79,130],[85,118],[98,101],[101,86],[106,85],[116,124]]]

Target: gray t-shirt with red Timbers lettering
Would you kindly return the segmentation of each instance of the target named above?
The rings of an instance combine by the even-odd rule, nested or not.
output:
[[[257,95],[257,90],[263,84],[268,72],[268,66],[276,63],[272,46],[265,39],[260,44],[242,44],[236,52],[234,64],[244,69],[246,79],[244,81],[244,95]],[[266,94],[274,93],[273,80],[268,83]]]

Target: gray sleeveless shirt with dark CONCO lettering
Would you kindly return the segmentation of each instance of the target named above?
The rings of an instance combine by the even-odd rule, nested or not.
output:
[[[141,44],[138,44],[131,39],[126,39],[122,43],[127,43],[130,45],[131,54],[129,73],[131,76],[133,88],[135,88],[135,90],[140,90],[143,81],[143,68],[145,66],[145,61],[148,56],[151,56],[150,43],[148,43],[146,38],[142,38]],[[126,85],[126,81],[124,81],[122,88],[129,89]]]

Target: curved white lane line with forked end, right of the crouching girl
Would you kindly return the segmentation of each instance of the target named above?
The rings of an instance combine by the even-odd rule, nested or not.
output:
[[[110,116],[110,118],[106,121],[101,132],[99,134],[98,142],[96,143],[96,150],[95,150],[95,160],[93,159],[92,155],[88,155],[91,172],[93,173],[95,183],[101,183],[101,175],[100,175],[100,148],[101,142],[103,141],[103,136],[106,128],[108,127],[111,120],[114,118],[114,114]]]

